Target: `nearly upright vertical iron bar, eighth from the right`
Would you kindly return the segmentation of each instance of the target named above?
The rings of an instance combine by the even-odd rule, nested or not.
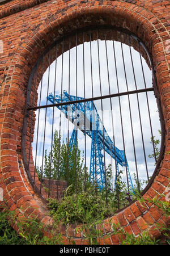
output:
[[[85,81],[85,66],[84,66],[84,32],[83,32],[83,85],[84,85],[84,99],[86,98],[86,81]],[[85,158],[85,184],[84,191],[86,192],[87,183],[87,162],[86,162],[86,102],[84,102],[84,158]]]

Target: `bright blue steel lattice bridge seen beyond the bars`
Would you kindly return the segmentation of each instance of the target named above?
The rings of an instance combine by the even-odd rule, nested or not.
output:
[[[105,152],[116,160],[117,174],[119,172],[118,165],[126,167],[129,187],[130,190],[133,191],[133,182],[131,181],[128,161],[125,159],[124,150],[116,148],[113,144],[113,141],[104,128],[95,104],[92,101],[69,103],[84,100],[84,98],[69,95],[67,91],[63,91],[62,95],[49,94],[47,98],[53,104],[68,102],[68,104],[58,105],[57,108],[74,124],[74,129],[69,141],[70,150],[73,148],[73,144],[76,145],[78,129],[82,131],[84,135],[86,134],[91,137],[90,179],[94,181],[96,177],[98,187],[104,187],[105,167],[103,152],[105,150]]]

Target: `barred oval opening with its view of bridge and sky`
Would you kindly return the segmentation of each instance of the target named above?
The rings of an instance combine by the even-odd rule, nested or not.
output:
[[[61,199],[70,185],[76,194],[93,186],[107,203],[120,193],[120,209],[148,186],[159,162],[161,125],[152,62],[142,45],[129,32],[84,30],[39,58],[23,141],[25,169],[42,198]]]

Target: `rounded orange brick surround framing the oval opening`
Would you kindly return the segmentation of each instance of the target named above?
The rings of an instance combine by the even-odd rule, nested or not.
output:
[[[39,26],[36,27],[35,22],[31,23],[35,29],[31,31],[31,28],[28,28],[28,34],[19,38],[15,45],[16,52],[14,54],[10,54],[6,43],[5,53],[8,53],[8,60],[2,73],[0,94],[0,182],[4,190],[6,205],[11,210],[22,207],[19,214],[30,215],[34,213],[45,224],[52,223],[52,219],[45,216],[45,205],[29,184],[21,155],[25,93],[33,65],[46,47],[65,33],[96,23],[112,24],[128,29],[145,42],[152,55],[156,70],[166,129],[165,152],[169,151],[169,53],[165,51],[166,40],[169,39],[169,35],[163,17],[133,3],[121,1],[94,1],[76,3],[74,6],[71,6],[70,1],[68,1],[63,5],[65,9],[62,9],[62,6],[54,5],[52,1],[47,1],[47,3],[41,5],[41,10],[32,9],[31,13],[29,10],[28,12],[22,12],[25,17],[30,15],[27,18],[28,20],[32,18],[36,22],[39,19],[41,21],[38,24]],[[58,11],[59,8],[62,11]],[[49,18],[43,19],[43,12],[45,11]],[[18,22],[21,20],[19,15],[16,18]],[[7,17],[7,22],[10,22],[10,20],[11,18]],[[157,193],[165,194],[169,177],[169,155],[165,154],[152,186],[143,197],[153,198]],[[37,209],[31,208],[32,206]],[[133,203],[111,219],[115,224],[120,223],[120,226],[129,233],[138,235],[143,230],[149,230],[155,237],[160,234],[155,230],[155,224],[167,223],[162,213],[154,205],[145,204],[145,207],[143,207],[139,202]],[[104,241],[101,241],[101,243],[117,244],[117,237],[112,234],[112,230],[108,230],[107,221],[105,220]],[[106,236],[108,233],[109,237]],[[70,230],[69,234],[72,236],[73,231]],[[76,244],[86,244],[87,241],[81,237],[81,234],[74,234],[74,236]],[[67,244],[65,231],[63,232],[63,240]]]

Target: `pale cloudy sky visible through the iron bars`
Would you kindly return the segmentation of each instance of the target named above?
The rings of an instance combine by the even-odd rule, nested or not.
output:
[[[114,42],[115,52],[116,52],[116,62],[117,62],[117,73],[118,73],[118,85],[120,92],[127,91],[126,89],[126,80],[124,65],[122,61],[122,52],[121,52],[121,43]],[[97,53],[97,41],[92,41],[92,78],[91,78],[91,59],[90,59],[90,43],[84,43],[84,65],[85,65],[85,87],[86,87],[86,98],[92,97],[92,80],[93,80],[93,89],[94,96],[108,95],[109,94],[109,83],[108,83],[108,70],[107,70],[107,58],[106,58],[106,48],[105,41],[99,40],[99,52],[100,52],[100,75],[101,75],[101,91],[100,91],[100,81],[99,81],[99,64],[98,64],[98,53]],[[124,58],[125,58],[125,69],[126,76],[128,81],[128,89],[135,90],[135,82],[133,75],[133,68],[131,65],[130,59],[130,49],[128,45],[123,44]],[[139,53],[131,48],[133,56],[133,64],[135,70],[135,78],[137,81],[137,89],[144,89],[145,83],[142,74],[141,60]],[[117,93],[117,81],[116,81],[116,69],[114,65],[114,52],[113,52],[113,43],[112,41],[107,41],[107,53],[108,53],[108,66],[109,66],[109,81],[111,94]],[[143,69],[145,72],[146,86],[152,87],[152,75],[151,70],[148,68],[145,60],[142,58]],[[55,70],[56,70],[56,61],[50,65],[50,69],[46,70],[42,78],[42,94],[41,94],[41,103],[40,105],[46,104],[47,96],[47,87],[48,87],[48,76],[49,80],[49,93],[54,92],[54,83],[55,83]],[[50,72],[50,75],[49,75]],[[62,72],[63,72],[63,81],[62,81]],[[41,84],[41,83],[40,83]],[[57,58],[57,76],[56,76],[56,92],[55,94],[61,94],[61,85],[62,91],[69,91],[69,51],[63,54],[63,69],[62,69],[62,56]],[[84,97],[84,79],[83,79],[83,45],[77,47],[77,89],[78,96]],[[76,95],[76,48],[71,49],[70,51],[70,94]],[[158,115],[158,108],[156,106],[156,100],[154,93],[151,91],[148,94],[150,112],[151,112],[151,121],[154,136],[160,139],[158,129],[160,129],[160,121]],[[39,96],[40,96],[40,86],[39,86]],[[139,107],[141,111],[141,120],[142,120],[142,129],[143,129],[143,138],[145,141],[145,150],[147,156],[147,167],[149,175],[151,176],[154,172],[155,161],[151,158],[148,158],[148,154],[151,154],[153,151],[152,144],[150,143],[151,131],[150,123],[148,119],[148,108],[146,101],[146,93],[140,93],[139,96]],[[139,178],[146,179],[146,166],[145,158],[143,153],[142,146],[142,136],[141,136],[141,127],[139,122],[139,113],[138,113],[138,103],[137,95],[130,95],[130,106],[131,106],[131,115],[133,120],[133,130],[134,130],[134,141],[135,141],[135,151],[137,156],[138,164],[138,173]],[[124,128],[124,137],[125,137],[125,150],[126,157],[129,163],[129,169],[131,177],[133,178],[133,173],[135,173],[135,161],[134,161],[134,148],[133,148],[133,139],[131,134],[131,124],[130,124],[130,113],[129,113],[129,103],[128,96],[121,96],[121,108],[122,108],[122,121]],[[50,102],[48,102],[50,104]],[[99,112],[101,118],[101,100],[95,100],[94,102],[97,111]],[[117,98],[112,98],[112,109],[111,113],[111,104],[110,99],[103,100],[103,110],[104,110],[104,127],[108,132],[108,135],[113,141],[113,129],[112,129],[112,115],[114,120],[114,135],[115,135],[115,144],[116,147],[120,150],[124,150],[123,141],[122,141],[122,129],[121,129],[121,119],[120,119],[120,106]],[[39,111],[36,111],[38,117]],[[54,108],[54,130],[59,131],[59,114],[60,111],[57,107]],[[46,129],[45,129],[45,149],[50,152],[51,141],[52,141],[52,116],[53,108],[48,108],[46,112]],[[68,120],[65,115],[61,115],[61,136],[62,140],[67,138],[67,127]],[[37,118],[38,119],[38,118]],[[36,120],[37,120],[36,119]],[[44,143],[44,128],[45,128],[45,109],[40,110],[40,124],[38,132],[38,146],[37,146],[37,161],[36,165],[41,166],[42,164],[42,148]],[[69,122],[70,136],[73,131],[74,125]],[[91,152],[91,139],[87,137],[87,166],[90,165],[90,152]],[[35,137],[33,141],[33,157],[35,159],[36,152],[36,139],[37,139],[37,121],[35,129]],[[82,132],[78,131],[78,142],[79,148],[84,150],[84,135]],[[114,160],[106,154],[106,163],[112,163],[113,174],[115,175]],[[124,168],[120,167],[124,170]],[[126,180],[126,174],[124,170],[123,179]]]

